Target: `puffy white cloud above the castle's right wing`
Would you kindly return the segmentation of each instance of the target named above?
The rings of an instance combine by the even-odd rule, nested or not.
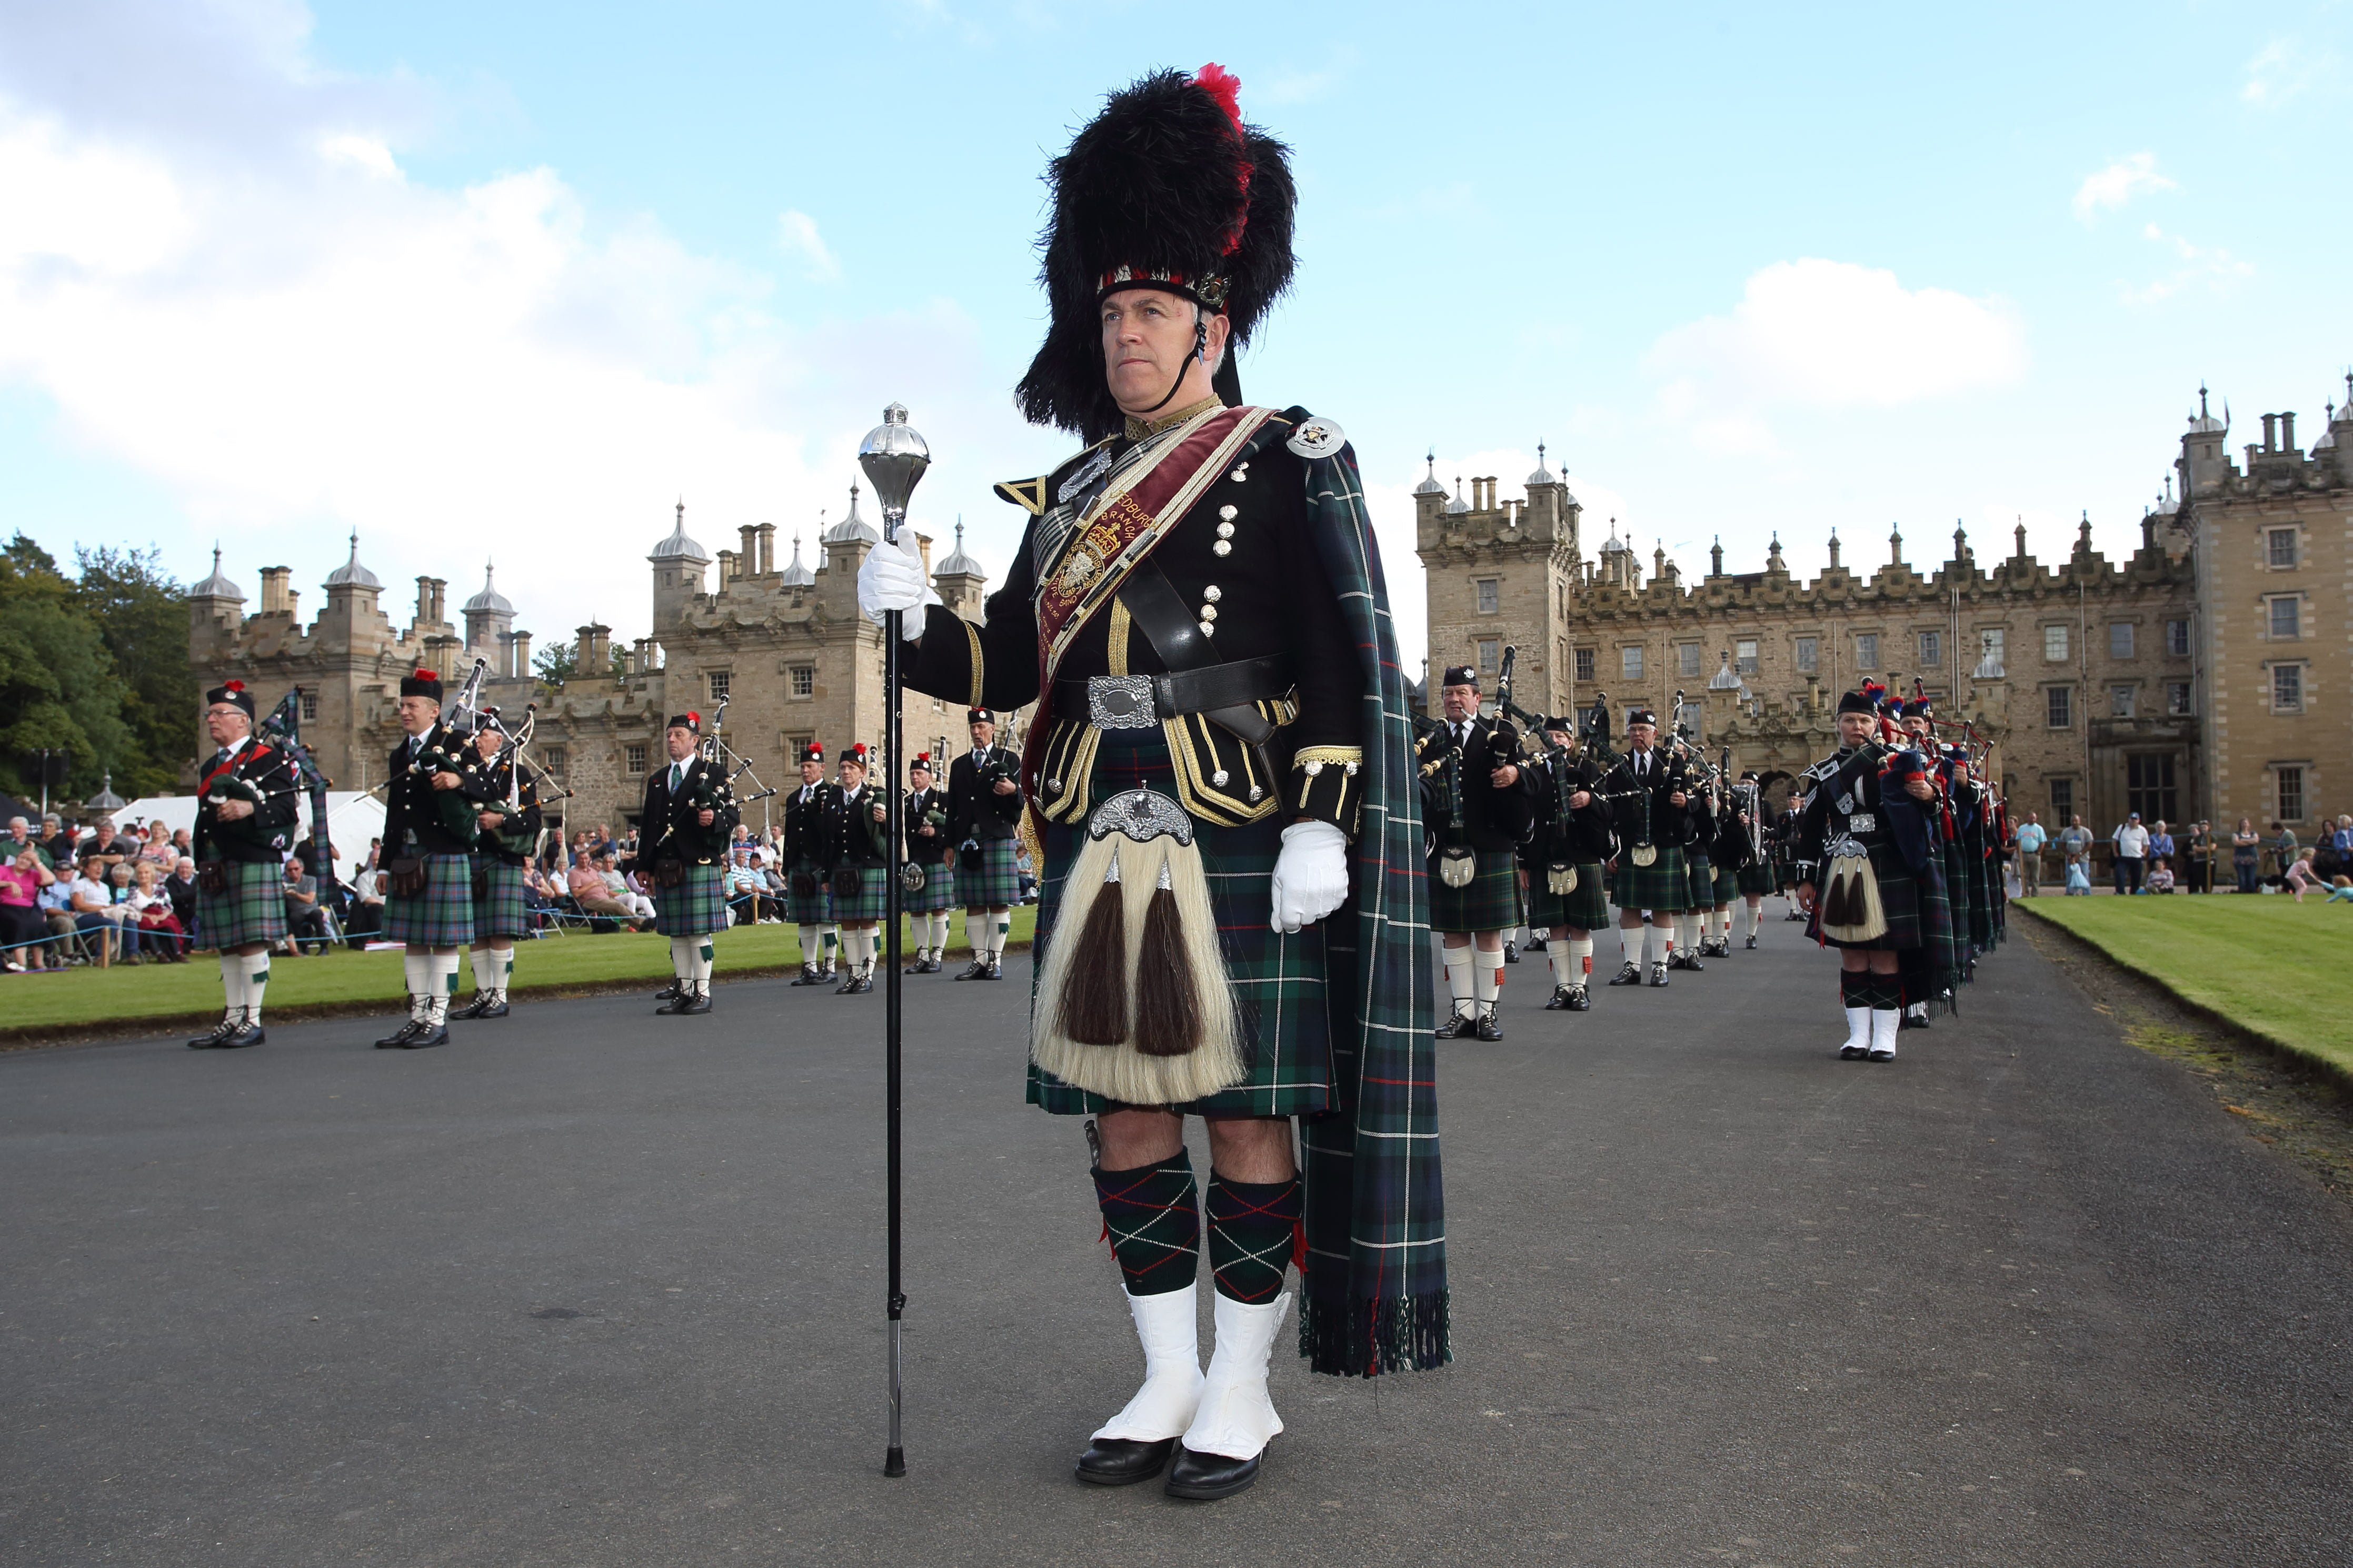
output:
[[[1659,411],[1715,449],[1772,449],[1777,404],[1894,407],[2007,386],[2026,371],[2026,329],[2002,299],[1906,289],[1882,268],[1777,261],[1729,315],[1664,334],[1649,369]]]

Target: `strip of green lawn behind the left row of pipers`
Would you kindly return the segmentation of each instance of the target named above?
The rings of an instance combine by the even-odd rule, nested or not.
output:
[[[1035,907],[1014,910],[1009,940],[1028,943],[1038,924]],[[955,914],[951,950],[965,947],[965,917]],[[915,950],[913,943],[906,945]],[[720,976],[786,971],[800,964],[800,938],[793,926],[736,926],[722,931],[715,954]],[[628,980],[656,983],[671,973],[666,936],[555,936],[520,943],[515,954],[515,994],[614,985]],[[266,1018],[301,1016],[304,1009],[351,1009],[381,1001],[398,1009],[398,952],[329,952],[320,959],[271,959],[271,994]],[[473,966],[459,966],[459,994],[473,992]],[[186,964],[120,964],[115,969],[73,969],[61,976],[0,973],[0,1039],[40,1039],[47,1030],[89,1027],[115,1020],[207,1018],[221,1011],[221,969],[209,952]]]

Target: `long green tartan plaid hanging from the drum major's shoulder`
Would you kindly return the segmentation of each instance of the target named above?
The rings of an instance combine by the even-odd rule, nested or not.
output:
[[[1285,440],[1308,418],[1306,409],[1287,409],[1259,442]],[[1374,1378],[1452,1361],[1431,898],[1405,668],[1355,449],[1304,454],[1304,463],[1308,536],[1365,670],[1365,799],[1351,849],[1353,896],[1325,938],[1337,1105],[1299,1119],[1299,1354],[1318,1373]]]

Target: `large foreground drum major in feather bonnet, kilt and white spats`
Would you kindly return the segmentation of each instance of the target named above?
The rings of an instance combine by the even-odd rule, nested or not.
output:
[[[1412,715],[1355,454],[1327,418],[1240,400],[1231,350],[1292,270],[1292,179],[1233,89],[1214,66],[1144,78],[1054,162],[1052,327],[1021,402],[1089,444],[1000,487],[1028,529],[986,623],[932,602],[906,661],[920,691],[1038,703],[1028,1093],[1096,1117],[1146,1366],[1078,1476],[1167,1469],[1179,1497],[1249,1486],[1282,1432],[1266,1380],[1294,1251],[1315,1371],[1447,1359]],[[925,604],[908,534],[859,597]],[[1188,1114],[1212,1164],[1207,1375]]]

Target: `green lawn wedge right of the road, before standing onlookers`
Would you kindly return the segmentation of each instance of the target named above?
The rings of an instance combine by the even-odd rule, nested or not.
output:
[[[2021,898],[2118,964],[2353,1077],[2353,905],[2275,898]]]

